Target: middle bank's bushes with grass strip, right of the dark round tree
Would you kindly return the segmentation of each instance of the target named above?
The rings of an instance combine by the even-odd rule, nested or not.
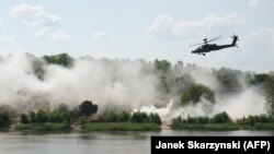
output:
[[[125,110],[104,110],[96,120],[81,125],[81,130],[89,131],[159,131],[161,119],[158,114]]]

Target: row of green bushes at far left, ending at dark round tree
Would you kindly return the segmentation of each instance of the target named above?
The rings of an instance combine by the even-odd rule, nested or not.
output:
[[[64,123],[69,128],[71,122],[76,122],[81,118],[87,119],[98,111],[98,105],[91,100],[82,102],[78,107],[69,109],[65,104],[59,105],[54,110],[31,111],[20,115],[20,123],[22,125],[41,125],[41,123]],[[18,122],[19,114],[8,105],[0,106],[0,130],[8,129],[12,122]],[[19,128],[22,126],[19,126]],[[48,126],[47,126],[48,127]],[[15,128],[16,129],[16,128]]]

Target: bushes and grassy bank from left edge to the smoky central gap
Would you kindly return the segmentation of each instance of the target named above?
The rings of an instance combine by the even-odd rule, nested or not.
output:
[[[105,125],[100,123],[116,123],[115,127],[112,125],[112,130],[126,130],[126,128],[129,130],[159,130],[161,126],[161,118],[158,114],[105,109],[94,116],[98,109],[98,105],[92,104],[91,100],[84,100],[78,107],[71,109],[61,104],[53,110],[38,109],[37,111],[21,114],[15,130],[68,131],[72,129],[71,125],[81,126],[82,130],[107,130],[109,127],[104,128]],[[16,115],[11,107],[0,107],[0,129],[8,129],[12,121],[18,120]],[[140,123],[140,126],[137,126],[137,123]],[[126,128],[123,128],[123,126],[126,126]]]

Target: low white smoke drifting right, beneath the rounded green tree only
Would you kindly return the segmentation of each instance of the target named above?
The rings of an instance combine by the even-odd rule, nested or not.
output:
[[[179,116],[183,118],[186,118],[187,116],[213,117],[222,111],[228,112],[228,115],[236,120],[243,116],[266,114],[265,97],[260,91],[261,90],[258,90],[256,87],[251,87],[226,98],[217,95],[216,104],[212,104],[202,98],[197,104],[178,107],[174,105],[173,100],[171,100],[163,107],[158,108],[151,104],[149,106],[142,106],[140,109],[135,109],[134,111],[157,112],[164,123],[170,123],[172,118]]]

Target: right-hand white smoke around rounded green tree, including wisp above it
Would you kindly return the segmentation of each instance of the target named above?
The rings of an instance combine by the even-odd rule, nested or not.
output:
[[[167,106],[156,107],[151,104],[142,106],[139,109],[145,112],[157,112],[164,123],[170,123],[172,118],[187,116],[207,116],[213,117],[218,112],[226,111],[233,119],[242,118],[249,115],[266,114],[266,100],[263,94],[263,90],[256,86],[247,86],[243,81],[243,75],[238,75],[237,79],[242,90],[238,93],[221,94],[219,92],[220,83],[218,83],[214,75],[213,69],[207,68],[191,68],[183,70],[183,73],[189,73],[195,79],[195,83],[202,83],[209,86],[215,91],[216,103],[209,103],[204,97],[196,104],[190,104],[185,106],[178,105],[178,103],[171,100]],[[179,100],[180,102],[180,100]],[[179,103],[180,104],[180,103]]]

